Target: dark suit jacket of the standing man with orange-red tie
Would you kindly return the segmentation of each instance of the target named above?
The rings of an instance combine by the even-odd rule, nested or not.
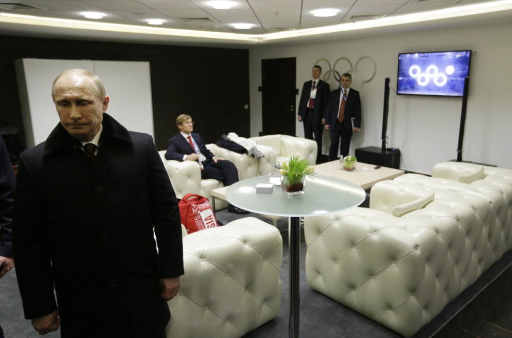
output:
[[[329,101],[325,107],[323,118],[325,119],[325,125],[330,125],[334,128],[336,120],[338,119],[339,104],[343,88],[333,90]],[[345,112],[343,119],[343,126],[346,131],[352,131],[351,118],[355,117],[354,126],[361,128],[361,99],[359,98],[359,92],[355,89],[350,89],[348,97],[345,103]]]

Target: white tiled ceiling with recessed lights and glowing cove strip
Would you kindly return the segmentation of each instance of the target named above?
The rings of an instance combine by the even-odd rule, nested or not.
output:
[[[138,26],[137,29],[158,27],[164,29],[193,30],[201,33],[219,32],[228,35],[271,36],[276,32],[315,29],[325,26],[350,24],[361,20],[379,20],[398,18],[404,14],[436,11],[442,9],[457,9],[475,4],[497,4],[496,0],[230,0],[231,9],[214,9],[210,0],[0,0],[0,12],[5,14],[22,14],[39,17],[50,17],[71,20],[83,20],[95,23],[111,23]],[[502,1],[503,2],[503,1]],[[512,6],[508,2],[505,11],[474,14],[464,17],[447,17],[429,22],[400,24],[400,29],[418,29],[434,26],[453,26],[471,22],[496,22],[497,20],[512,20]],[[19,6],[25,9],[15,9]],[[33,8],[30,8],[33,7]],[[331,17],[315,17],[312,12],[316,9],[332,8],[339,11]],[[81,15],[85,11],[104,13],[102,19],[86,19]],[[482,10],[485,12],[485,10]],[[362,16],[362,17],[361,17]],[[372,17],[381,19],[373,19]],[[148,19],[165,20],[161,26],[150,26]],[[233,24],[246,23],[254,25],[247,30],[235,29]],[[345,25],[347,26],[347,25]],[[373,28],[373,31],[390,31],[390,28]],[[393,29],[398,29],[397,27]],[[363,30],[370,33],[372,30]],[[322,39],[340,36],[343,30],[336,33],[324,34]],[[252,38],[230,41],[229,38],[213,39],[211,36],[191,37],[177,36],[179,34],[147,34],[140,32],[118,32],[101,30],[101,28],[69,28],[46,23],[44,26],[26,24],[16,19],[0,16],[0,34],[119,40],[139,43],[201,43],[208,41],[217,44],[250,44]],[[280,34],[280,33],[278,33]],[[361,32],[352,32],[361,34]],[[349,33],[344,36],[352,36]],[[226,34],[224,34],[226,35]],[[295,41],[305,42],[318,40],[318,35],[295,38]],[[276,42],[276,41],[274,41]],[[282,42],[282,41],[278,41]]]

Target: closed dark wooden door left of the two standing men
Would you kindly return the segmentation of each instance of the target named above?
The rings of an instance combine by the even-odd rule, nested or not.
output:
[[[263,135],[295,136],[295,57],[261,60]]]

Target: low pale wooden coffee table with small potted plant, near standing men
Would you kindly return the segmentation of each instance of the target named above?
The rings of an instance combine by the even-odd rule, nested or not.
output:
[[[315,165],[315,173],[318,175],[332,176],[356,183],[363,189],[371,188],[375,183],[384,180],[392,180],[403,175],[405,172],[400,169],[381,166],[375,169],[375,164],[357,162],[356,169],[347,172],[339,168],[339,160]],[[368,168],[367,172],[363,168]]]

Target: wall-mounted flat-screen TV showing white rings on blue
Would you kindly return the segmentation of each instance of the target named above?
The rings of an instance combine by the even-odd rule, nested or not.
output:
[[[463,96],[471,51],[398,55],[397,94]]]

